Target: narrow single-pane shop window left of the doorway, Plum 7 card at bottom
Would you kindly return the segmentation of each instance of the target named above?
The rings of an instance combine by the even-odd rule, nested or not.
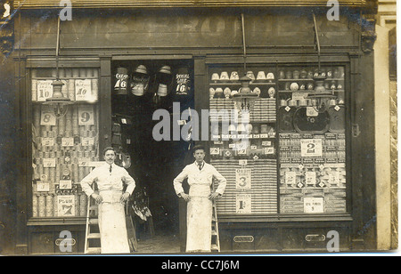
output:
[[[79,182],[99,160],[98,69],[59,69],[61,93],[70,104],[58,111],[56,69],[31,69],[32,217],[85,217]]]

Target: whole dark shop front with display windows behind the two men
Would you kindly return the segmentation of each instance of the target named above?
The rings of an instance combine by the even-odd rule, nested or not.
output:
[[[172,182],[195,143],[227,179],[222,253],[375,249],[371,3],[344,1],[339,20],[323,1],[126,5],[72,3],[59,21],[29,2],[13,19],[18,253],[62,253],[61,231],[83,253],[79,181],[107,146],[137,182],[138,237],[179,235],[184,252]]]

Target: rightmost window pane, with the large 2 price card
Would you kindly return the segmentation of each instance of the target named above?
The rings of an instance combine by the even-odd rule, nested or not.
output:
[[[344,67],[279,69],[280,213],[346,212],[344,94]]]

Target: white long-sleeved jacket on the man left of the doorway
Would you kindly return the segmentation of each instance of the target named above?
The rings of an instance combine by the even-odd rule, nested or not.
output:
[[[94,170],[87,174],[81,181],[82,190],[85,191],[87,196],[91,196],[94,193],[91,185],[93,182],[97,183],[99,191],[102,190],[116,190],[122,191],[123,183],[127,184],[126,192],[132,194],[135,189],[135,180],[129,175],[127,170],[119,165],[110,165],[105,163],[104,165],[94,168]]]

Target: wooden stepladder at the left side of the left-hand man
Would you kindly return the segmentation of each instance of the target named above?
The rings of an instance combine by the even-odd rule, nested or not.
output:
[[[85,254],[101,254],[101,234],[99,229],[99,209],[93,197],[87,198]]]

